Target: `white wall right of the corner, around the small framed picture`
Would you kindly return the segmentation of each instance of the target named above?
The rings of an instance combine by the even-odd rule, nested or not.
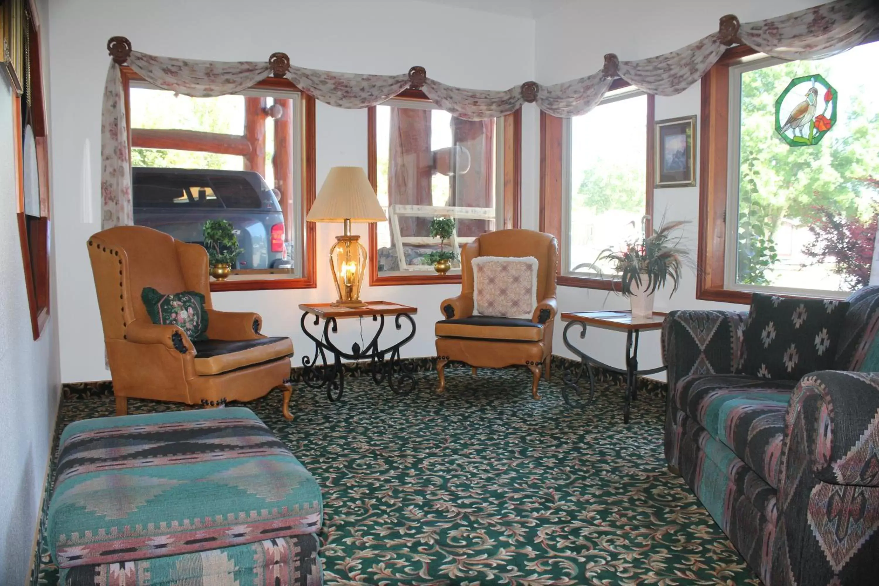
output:
[[[615,53],[621,60],[643,59],[673,51],[717,30],[718,19],[735,14],[741,22],[770,18],[821,4],[817,0],[712,0],[688,2],[673,0],[628,0],[604,3],[570,3],[536,22],[535,48],[537,81],[558,83],[585,76],[600,69],[604,54]],[[656,98],[656,119],[700,115],[701,90],[698,83],[672,98]],[[697,125],[701,119],[697,119]],[[697,145],[697,156],[698,156]],[[697,161],[696,168],[698,170]],[[700,178],[697,174],[697,185]],[[667,220],[689,220],[685,242],[693,255],[696,251],[696,225],[699,220],[699,188],[657,189],[654,192],[653,217],[663,214]],[[668,290],[657,293],[656,310],[712,308],[744,310],[747,307],[700,301],[695,298],[693,273],[686,274],[678,293],[670,299]],[[628,308],[628,300],[614,293],[562,286],[558,289],[562,311]],[[556,323],[553,352],[573,357],[562,342],[563,323]],[[578,332],[578,329],[574,331]],[[624,366],[625,335],[601,329],[589,329],[579,348],[610,365]],[[642,336],[639,352],[641,368],[661,364],[659,333]],[[665,379],[664,375],[657,378]]]

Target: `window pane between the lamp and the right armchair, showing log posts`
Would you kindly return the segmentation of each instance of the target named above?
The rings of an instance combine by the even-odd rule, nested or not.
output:
[[[495,120],[403,105],[375,110],[376,192],[389,217],[378,224],[379,272],[432,272],[432,253],[460,256],[461,246],[495,229]],[[437,217],[455,218],[451,242],[431,238]],[[452,266],[460,270],[457,260]]]

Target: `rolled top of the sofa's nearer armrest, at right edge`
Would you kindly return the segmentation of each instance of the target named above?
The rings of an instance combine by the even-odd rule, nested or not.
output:
[[[782,478],[797,483],[810,470],[817,481],[879,487],[877,444],[879,373],[807,374],[788,404]]]

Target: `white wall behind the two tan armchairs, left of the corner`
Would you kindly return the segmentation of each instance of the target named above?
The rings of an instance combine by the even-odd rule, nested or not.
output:
[[[500,17],[482,11],[419,2],[273,2],[236,0],[55,0],[49,15],[54,51],[50,56],[54,122],[54,181],[66,189],[56,202],[59,275],[59,329],[62,380],[105,380],[103,335],[85,242],[99,226],[99,129],[101,95],[109,65],[105,44],[127,36],[147,53],[214,60],[265,60],[283,51],[305,67],[360,73],[399,74],[422,65],[430,76],[464,87],[505,90],[534,77],[534,20]],[[538,153],[534,120],[527,119],[522,172],[535,184]],[[90,144],[91,202],[94,222],[80,221],[79,186],[84,174],[84,145]],[[367,113],[318,104],[317,186],[334,165],[367,165]],[[526,190],[526,225],[536,226],[536,196]],[[317,227],[318,287],[307,290],[214,293],[214,305],[226,310],[258,311],[264,333],[291,336],[294,364],[313,347],[301,335],[297,306],[331,300],[334,291],[327,254],[341,227]],[[366,226],[355,234],[366,239]],[[432,356],[433,322],[439,303],[458,286],[364,287],[363,299],[416,305],[418,337],[404,356]],[[364,322],[370,331],[372,323]],[[357,322],[340,329],[360,340]],[[341,333],[341,332],[340,332]],[[402,334],[403,332],[401,332]],[[388,337],[387,339],[392,339]]]

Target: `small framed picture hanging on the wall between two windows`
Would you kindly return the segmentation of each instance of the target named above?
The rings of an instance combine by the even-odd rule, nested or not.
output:
[[[693,187],[696,184],[696,117],[657,120],[654,187]]]

